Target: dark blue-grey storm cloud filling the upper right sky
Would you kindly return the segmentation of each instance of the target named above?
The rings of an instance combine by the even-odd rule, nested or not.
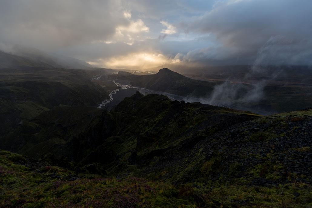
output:
[[[210,34],[219,44],[189,51],[184,59],[252,63],[267,46],[270,60],[265,64],[311,64],[311,8],[308,0],[219,2],[204,15],[178,24],[180,32]]]

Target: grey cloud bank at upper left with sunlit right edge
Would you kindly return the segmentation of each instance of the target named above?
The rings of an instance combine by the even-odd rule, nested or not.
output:
[[[149,27],[124,5],[121,0],[1,1],[0,43],[91,62],[136,52]]]

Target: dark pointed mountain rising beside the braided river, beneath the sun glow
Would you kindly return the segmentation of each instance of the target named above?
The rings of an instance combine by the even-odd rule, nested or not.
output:
[[[193,80],[167,68],[160,69],[154,75],[133,75],[129,72],[119,71],[110,75],[111,78],[130,80],[130,84],[147,89],[168,92],[177,95],[205,96],[209,94],[214,84],[211,82]]]

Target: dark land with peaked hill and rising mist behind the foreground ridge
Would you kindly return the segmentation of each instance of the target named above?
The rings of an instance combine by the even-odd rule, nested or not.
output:
[[[188,100],[196,98],[203,103],[250,110],[263,115],[296,111],[312,105],[309,78],[311,67],[267,66],[265,73],[244,78],[249,70],[250,66],[211,67],[209,72],[197,71],[206,74],[188,74],[193,77],[190,79],[163,68],[154,75],[139,76],[119,71],[110,77],[129,80],[131,85],[141,88],[181,95]],[[268,74],[274,70],[278,71],[278,76],[272,80]]]

